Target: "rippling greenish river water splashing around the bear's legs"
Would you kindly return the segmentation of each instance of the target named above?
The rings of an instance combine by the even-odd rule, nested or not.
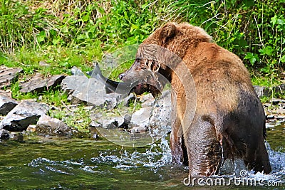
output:
[[[107,140],[26,137],[23,143],[0,142],[0,189],[285,189],[284,127],[268,129],[271,174],[248,171],[244,178],[275,186],[185,186],[188,169],[171,163],[165,139],[124,148]],[[229,171],[234,165],[223,167]],[[234,177],[239,176],[222,174],[209,180]],[[279,181],[282,186],[276,186]]]

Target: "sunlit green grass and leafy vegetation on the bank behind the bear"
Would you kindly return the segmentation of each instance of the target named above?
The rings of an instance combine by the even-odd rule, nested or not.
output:
[[[1,0],[0,65],[23,68],[20,79],[34,73],[70,75],[74,65],[86,72],[93,60],[141,43],[163,23],[187,21],[242,58],[254,84],[272,87],[285,78],[284,15],[285,0]],[[130,64],[100,67],[116,79]],[[19,83],[11,91],[16,99],[39,96],[19,93]],[[49,104],[67,102],[58,91],[42,96]]]

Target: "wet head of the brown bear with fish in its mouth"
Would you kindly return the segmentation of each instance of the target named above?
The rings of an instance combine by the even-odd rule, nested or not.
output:
[[[189,23],[166,23],[157,28],[140,44],[135,62],[128,71],[119,75],[125,83],[135,84],[134,92],[160,95],[167,82],[171,83],[172,70],[182,62],[186,51],[212,38]]]

